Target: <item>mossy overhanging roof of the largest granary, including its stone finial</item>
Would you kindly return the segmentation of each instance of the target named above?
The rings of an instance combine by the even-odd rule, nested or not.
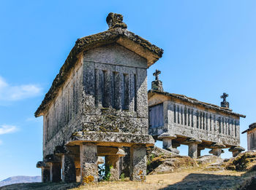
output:
[[[52,100],[56,98],[59,89],[68,78],[78,58],[86,50],[94,49],[105,44],[118,43],[141,57],[146,58],[146,60],[148,60],[148,67],[162,57],[162,49],[135,33],[127,31],[127,25],[123,23],[122,20],[122,15],[110,13],[107,17],[107,23],[109,25],[108,31],[86,36],[75,41],[75,46],[69,52],[64,65],[61,66],[59,74],[57,74],[56,78],[53,80],[50,90],[46,93],[39,108],[37,108],[34,114],[35,116],[42,116],[42,112],[45,111],[45,108],[48,108]]]

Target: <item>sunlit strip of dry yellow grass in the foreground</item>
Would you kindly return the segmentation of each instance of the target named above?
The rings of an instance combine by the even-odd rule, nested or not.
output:
[[[177,183],[197,183],[202,180],[198,178],[198,175],[205,175],[205,181],[217,181],[216,177],[225,180],[233,180],[234,177],[240,177],[244,172],[236,171],[218,171],[218,172],[202,172],[198,170],[187,170],[180,173],[167,173],[159,175],[147,175],[146,182],[134,182],[134,181],[110,181],[91,183],[85,186],[80,186],[72,190],[84,190],[84,189],[171,189],[172,185]],[[220,176],[221,175],[221,176]],[[223,175],[223,177],[222,177]],[[241,177],[243,178],[243,177]],[[236,179],[234,179],[236,183]],[[210,184],[212,185],[212,184]],[[235,187],[235,186],[234,186]],[[230,186],[231,189],[232,186]]]

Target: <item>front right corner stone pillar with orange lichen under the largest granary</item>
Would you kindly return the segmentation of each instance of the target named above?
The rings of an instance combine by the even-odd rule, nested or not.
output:
[[[146,146],[134,145],[130,150],[130,180],[146,181]]]

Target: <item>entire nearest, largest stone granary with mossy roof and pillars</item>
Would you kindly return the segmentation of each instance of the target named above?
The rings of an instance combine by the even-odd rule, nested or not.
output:
[[[147,68],[163,50],[110,13],[108,31],[78,39],[35,112],[43,116],[42,181],[98,181],[105,156],[113,180],[129,147],[129,177],[146,178]]]

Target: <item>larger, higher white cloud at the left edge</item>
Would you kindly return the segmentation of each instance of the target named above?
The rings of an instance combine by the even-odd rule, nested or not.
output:
[[[0,76],[0,100],[14,101],[39,95],[41,88],[36,84],[22,84],[14,86],[5,82]]]

